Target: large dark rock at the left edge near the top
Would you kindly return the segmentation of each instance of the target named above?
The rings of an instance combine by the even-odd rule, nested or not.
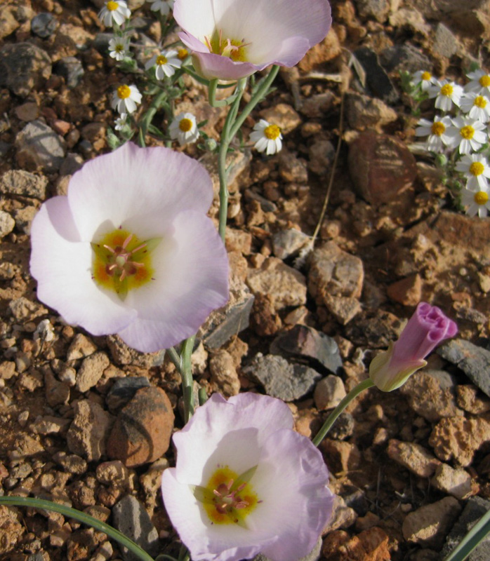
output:
[[[8,43],[0,49],[0,86],[27,97],[32,88],[41,90],[51,76],[51,58],[31,43]]]

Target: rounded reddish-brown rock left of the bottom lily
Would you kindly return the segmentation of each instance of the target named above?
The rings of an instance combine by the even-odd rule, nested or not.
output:
[[[107,455],[131,468],[155,461],[168,450],[173,419],[172,405],[161,388],[141,388],[119,412]]]

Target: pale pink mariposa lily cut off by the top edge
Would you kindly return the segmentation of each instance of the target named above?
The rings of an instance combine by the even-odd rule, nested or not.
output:
[[[173,17],[196,71],[221,80],[292,67],[331,26],[327,0],[176,0]]]

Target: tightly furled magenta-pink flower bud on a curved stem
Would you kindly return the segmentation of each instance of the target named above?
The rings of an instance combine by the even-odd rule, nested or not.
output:
[[[418,304],[395,344],[371,360],[369,377],[381,391],[402,386],[413,372],[424,367],[429,353],[444,339],[454,337],[458,326],[427,302]]]

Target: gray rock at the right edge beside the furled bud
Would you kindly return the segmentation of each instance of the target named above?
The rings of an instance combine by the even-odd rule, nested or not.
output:
[[[461,368],[473,384],[490,397],[490,351],[464,339],[451,339],[439,346],[437,354]]]

